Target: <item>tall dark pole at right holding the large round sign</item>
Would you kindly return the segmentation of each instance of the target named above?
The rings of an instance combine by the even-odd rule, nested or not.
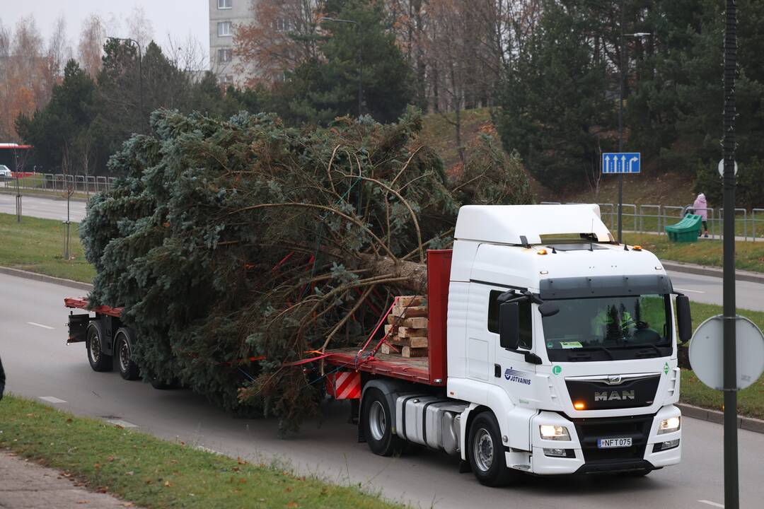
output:
[[[727,0],[724,30],[724,507],[738,509],[735,304],[735,75],[737,9]]]

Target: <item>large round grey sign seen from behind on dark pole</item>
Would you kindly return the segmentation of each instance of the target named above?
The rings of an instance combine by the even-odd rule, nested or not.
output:
[[[735,321],[737,388],[756,382],[764,372],[764,335],[746,317]],[[724,389],[724,316],[704,321],[690,340],[690,366],[708,387]]]

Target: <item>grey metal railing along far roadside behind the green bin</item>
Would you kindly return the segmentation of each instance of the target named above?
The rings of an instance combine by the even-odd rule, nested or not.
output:
[[[573,202],[565,202],[566,205],[574,205]],[[541,205],[561,205],[560,201],[542,201]],[[604,224],[610,225],[614,230],[618,224],[618,205],[612,203],[600,203],[600,217]],[[676,224],[691,209],[691,205],[652,205],[652,204],[623,204],[621,221],[623,230],[626,232],[638,232],[642,234],[665,235],[665,227]],[[724,232],[724,212],[714,207],[707,208],[708,236],[721,239]],[[764,208],[735,209],[735,236],[738,240],[752,240],[753,242],[764,240]]]

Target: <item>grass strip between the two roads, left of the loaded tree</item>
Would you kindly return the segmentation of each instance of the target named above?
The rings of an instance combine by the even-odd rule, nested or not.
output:
[[[0,266],[57,278],[92,282],[95,269],[87,263],[79,243],[79,224],[72,223],[69,260],[63,257],[65,225],[51,219],[0,214]]]

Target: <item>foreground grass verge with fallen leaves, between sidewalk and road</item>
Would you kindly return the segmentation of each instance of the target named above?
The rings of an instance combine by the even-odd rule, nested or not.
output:
[[[0,408],[0,446],[144,507],[402,507],[358,486],[251,465],[24,398],[8,396]]]

